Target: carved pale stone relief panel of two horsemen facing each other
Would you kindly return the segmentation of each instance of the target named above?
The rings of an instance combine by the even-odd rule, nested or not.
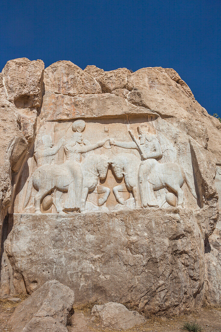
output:
[[[159,124],[142,116],[46,122],[22,172],[15,211],[71,213],[187,205],[187,191],[196,199],[191,166],[187,173],[175,142],[156,127]]]

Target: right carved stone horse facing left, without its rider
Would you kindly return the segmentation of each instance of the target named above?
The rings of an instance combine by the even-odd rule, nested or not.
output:
[[[159,190],[165,187],[175,192],[178,197],[178,205],[182,205],[184,201],[184,191],[181,187],[184,181],[186,181],[187,187],[193,197],[196,198],[195,190],[191,185],[186,171],[176,163],[160,164],[155,159],[147,159],[141,162],[136,156],[127,153],[117,155],[111,159],[110,163],[118,179],[122,179],[124,176],[126,188],[132,190],[136,207],[140,207],[140,197],[142,207],[148,206],[147,196],[149,188]],[[145,187],[146,181],[149,182],[148,186],[146,186],[147,188]],[[121,186],[122,185],[114,187],[113,193],[117,202],[124,204],[124,200],[119,195]]]

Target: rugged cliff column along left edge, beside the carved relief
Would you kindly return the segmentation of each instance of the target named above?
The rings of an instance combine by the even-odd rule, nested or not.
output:
[[[0,233],[13,188],[34,143],[43,70],[43,61],[20,58],[8,61],[0,75]]]

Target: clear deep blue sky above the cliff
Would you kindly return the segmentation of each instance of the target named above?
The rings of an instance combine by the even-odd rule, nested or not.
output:
[[[0,71],[14,58],[45,67],[174,68],[208,113],[221,116],[221,1],[1,2]]]

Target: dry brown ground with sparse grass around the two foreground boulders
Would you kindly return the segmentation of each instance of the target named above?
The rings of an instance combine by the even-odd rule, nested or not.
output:
[[[21,296],[22,297],[22,296]],[[8,323],[15,308],[24,301],[22,297],[20,303],[13,303],[0,299],[0,332],[11,332],[11,326]],[[93,305],[93,304],[92,304]],[[90,314],[92,305],[89,303],[85,307],[75,307],[75,312],[72,315],[69,326],[69,332],[103,332],[103,331],[117,331],[104,330],[101,328],[99,321],[94,320]],[[185,322],[196,321],[206,332],[221,332],[221,308],[205,307],[193,312],[192,314],[180,315],[178,317],[159,317],[153,315],[148,317],[146,322],[136,328],[131,328],[128,332],[135,331],[149,331],[149,332],[179,332]]]

